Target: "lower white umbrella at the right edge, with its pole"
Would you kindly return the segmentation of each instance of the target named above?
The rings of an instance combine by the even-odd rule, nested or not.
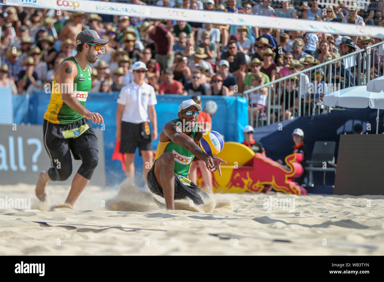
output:
[[[329,96],[329,97],[328,97]],[[384,109],[384,93],[367,91],[367,86],[353,86],[330,93],[323,98],[325,106],[377,109],[376,134],[379,131],[379,109]]]

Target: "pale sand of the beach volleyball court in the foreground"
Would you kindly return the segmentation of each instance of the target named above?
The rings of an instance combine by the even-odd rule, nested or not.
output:
[[[176,201],[181,209],[169,211],[161,197],[144,201],[137,191],[125,205],[134,211],[109,211],[103,204],[118,190],[89,186],[75,210],[39,211],[33,209],[33,185],[0,189],[2,198],[31,198],[32,205],[30,211],[0,210],[0,255],[384,254],[379,195],[215,194],[201,206]],[[48,185],[48,190],[55,205],[69,187]],[[294,209],[265,208],[270,196],[295,199]]]

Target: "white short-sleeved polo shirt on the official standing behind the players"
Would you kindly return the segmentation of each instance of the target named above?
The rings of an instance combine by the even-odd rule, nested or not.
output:
[[[122,121],[134,124],[149,122],[148,106],[157,104],[155,89],[145,82],[139,86],[132,81],[121,88],[117,102],[125,105]]]

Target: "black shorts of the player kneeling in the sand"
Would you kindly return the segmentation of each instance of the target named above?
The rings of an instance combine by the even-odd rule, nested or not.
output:
[[[156,195],[164,198],[164,193],[155,176],[155,163],[152,165],[147,175],[147,184],[149,190]],[[174,200],[190,198],[194,204],[204,204],[203,199],[209,199],[209,195],[201,190],[192,181],[181,175],[175,175],[175,196]]]

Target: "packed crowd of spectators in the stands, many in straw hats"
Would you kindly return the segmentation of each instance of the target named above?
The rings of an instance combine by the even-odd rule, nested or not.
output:
[[[383,0],[373,0],[362,9],[357,5],[346,8],[344,5],[347,2],[342,1],[338,2],[339,6],[321,7],[317,0],[310,0],[308,5],[296,0],[117,2],[302,18],[303,25],[305,20],[354,25],[384,24]],[[311,83],[329,82],[325,81],[327,73],[318,73],[319,77],[303,73],[295,77],[295,73],[382,41],[382,38],[368,36],[351,38],[321,32],[65,10],[58,13],[56,10],[12,6],[2,7],[0,27],[0,85],[10,86],[13,94],[42,90],[47,82],[51,83],[54,71],[63,59],[76,54],[75,38],[83,29],[96,30],[101,38],[109,40],[103,46],[98,61],[90,64],[93,69],[91,92],[109,93],[119,92],[122,86],[131,82],[130,66],[142,61],[148,68],[145,81],[154,87],[156,94],[231,96],[293,75],[290,80],[292,85],[286,85],[284,91],[292,92],[298,83],[302,83],[302,97],[308,98]],[[384,50],[381,50],[380,56],[377,51],[371,53],[371,64],[375,66],[372,78],[381,75],[383,54]],[[348,85],[343,87],[353,86],[361,75],[351,71],[356,60],[339,61],[338,65],[338,73],[333,74],[332,79],[344,79],[346,76],[343,83]],[[265,111],[266,98],[260,95],[266,93],[265,89],[252,93],[250,108],[260,113]],[[313,101],[306,99],[304,102]],[[294,110],[282,107],[280,116],[285,114],[289,118]],[[271,116],[275,114],[278,113]]]

